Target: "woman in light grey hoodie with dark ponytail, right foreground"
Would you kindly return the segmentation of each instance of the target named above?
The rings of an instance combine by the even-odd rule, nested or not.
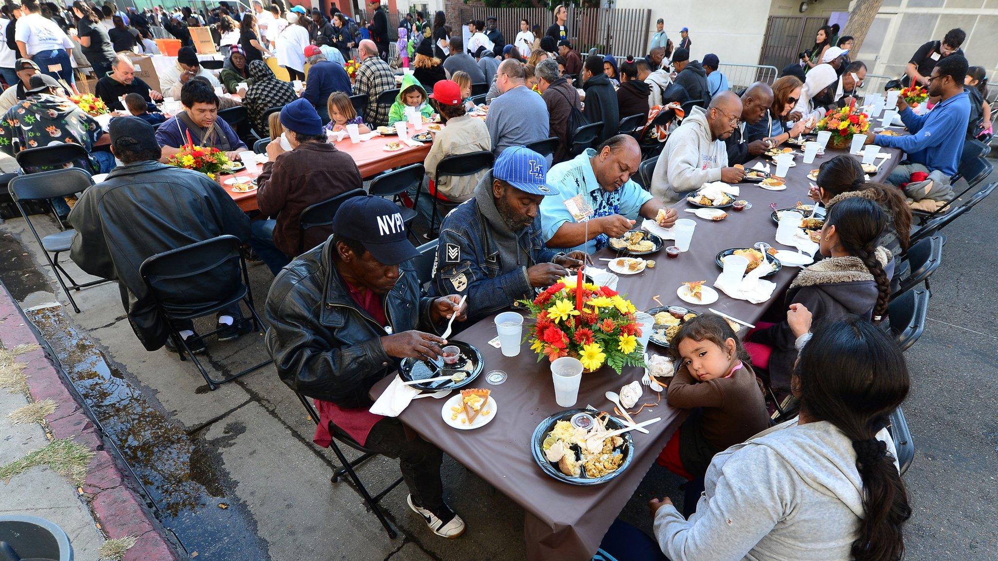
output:
[[[799,416],[717,454],[689,519],[668,498],[649,503],[669,559],[903,557],[911,508],[884,428],[909,389],[901,350],[863,318],[825,322],[792,387]]]

